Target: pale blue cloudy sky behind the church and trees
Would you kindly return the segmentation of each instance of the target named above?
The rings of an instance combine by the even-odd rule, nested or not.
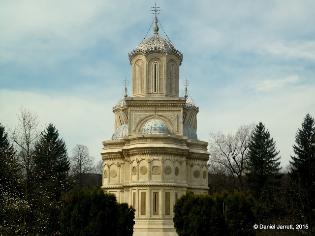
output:
[[[56,125],[71,155],[95,161],[114,132],[112,107],[131,80],[128,53],[153,20],[152,0],[0,1],[0,123],[19,109]],[[315,117],[314,0],[160,0],[158,20],[184,54],[180,94],[199,107],[197,135],[263,122],[288,165],[306,114]],[[153,28],[153,27],[152,27]],[[147,38],[153,35],[150,29]],[[167,38],[159,25],[160,36]],[[131,86],[127,89],[131,91]]]

